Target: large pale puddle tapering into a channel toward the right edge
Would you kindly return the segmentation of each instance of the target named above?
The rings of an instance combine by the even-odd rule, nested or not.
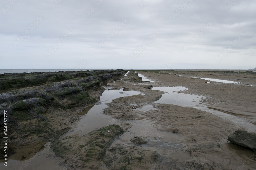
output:
[[[246,128],[249,132],[256,132],[255,125],[241,117],[207,108],[207,104],[203,104],[200,101],[205,97],[178,93],[178,91],[187,90],[185,87],[153,87],[152,90],[167,92],[165,94],[162,94],[162,97],[159,100],[155,101],[155,103],[174,104],[182,107],[193,107],[198,110],[210,112],[222,119],[232,121],[238,126],[241,125],[241,127]]]

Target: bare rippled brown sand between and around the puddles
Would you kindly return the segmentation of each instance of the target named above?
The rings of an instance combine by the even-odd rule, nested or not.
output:
[[[144,95],[115,99],[105,109],[104,113],[124,120],[149,120],[157,130],[176,134],[177,137],[173,140],[182,143],[182,147],[178,149],[170,147],[169,150],[164,151],[159,150],[165,159],[156,165],[155,169],[256,169],[255,154],[253,155],[252,151],[227,142],[228,135],[238,128],[253,132],[255,132],[255,129],[249,129],[243,123],[237,125],[232,121],[195,108],[153,103],[164,92],[143,88],[145,85],[187,87],[188,90],[182,93],[204,96],[202,102],[208,107],[243,117],[248,122],[256,124],[256,74],[187,70],[162,71],[165,74],[159,74],[150,71],[138,71],[138,73],[158,83],[141,83],[140,81],[136,83],[136,81],[133,81],[133,84],[129,84],[131,80],[136,78],[134,72],[130,71],[124,80],[109,85],[119,88],[125,87],[125,90],[141,91]],[[241,83],[205,83],[206,80],[191,77],[214,78]],[[136,111],[132,109],[132,103],[137,104],[136,107],[139,108],[153,103],[152,106],[157,110]],[[154,136],[149,132],[144,134],[140,130],[143,131],[143,129],[136,129],[129,133],[141,133],[141,136],[148,138]],[[128,140],[128,138],[124,138],[121,141],[115,141],[112,147]],[[157,148],[154,149],[157,150]]]

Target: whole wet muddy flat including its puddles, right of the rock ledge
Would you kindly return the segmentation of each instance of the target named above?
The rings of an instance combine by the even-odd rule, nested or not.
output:
[[[98,102],[73,109],[76,122],[51,140],[48,153],[68,169],[256,169],[252,150],[227,141],[237,129],[256,133],[255,72],[130,70],[118,78],[103,81]]]

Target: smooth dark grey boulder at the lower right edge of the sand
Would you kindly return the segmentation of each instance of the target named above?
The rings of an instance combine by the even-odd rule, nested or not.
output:
[[[228,136],[230,142],[237,145],[247,147],[256,152],[256,134],[244,130],[236,130],[233,134]]]

